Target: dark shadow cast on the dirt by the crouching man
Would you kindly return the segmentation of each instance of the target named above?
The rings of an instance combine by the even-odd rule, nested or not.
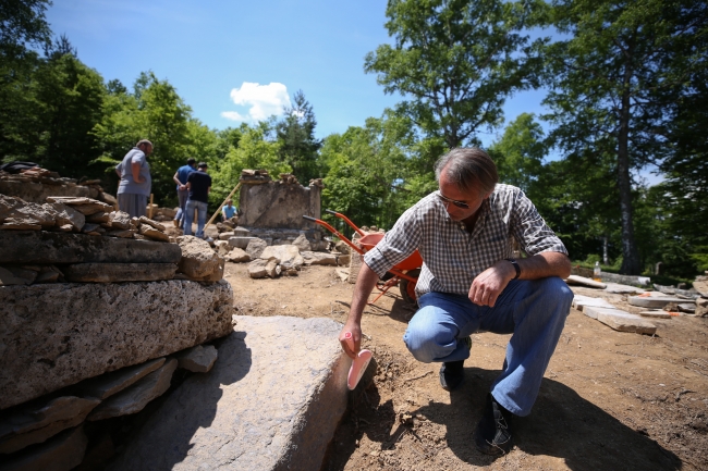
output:
[[[465,369],[465,384],[451,394],[451,404],[430,402],[415,413],[447,426],[450,449],[475,466],[495,458],[474,447],[474,429],[481,417],[486,392],[499,371]],[[454,412],[454,413],[453,413]],[[681,460],[655,441],[582,398],[572,388],[544,379],[528,417],[512,423],[514,445],[528,455],[562,458],[574,471],[679,470]]]

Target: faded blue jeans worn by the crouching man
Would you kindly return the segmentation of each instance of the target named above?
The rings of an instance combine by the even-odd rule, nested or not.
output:
[[[420,310],[403,342],[418,361],[448,362],[469,357],[459,338],[478,331],[513,334],[491,394],[506,410],[528,416],[572,300],[573,293],[558,277],[512,280],[493,308],[477,306],[467,296],[427,293],[418,299]]]

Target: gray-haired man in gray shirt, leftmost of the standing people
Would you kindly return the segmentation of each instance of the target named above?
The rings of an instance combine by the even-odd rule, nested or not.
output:
[[[147,197],[152,186],[150,165],[147,163],[150,153],[152,142],[143,139],[115,165],[115,173],[121,179],[118,185],[118,208],[131,218],[145,215],[147,209]]]

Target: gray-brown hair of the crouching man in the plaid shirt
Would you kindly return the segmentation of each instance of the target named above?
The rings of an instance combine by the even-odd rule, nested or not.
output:
[[[438,183],[442,172],[451,183],[464,191],[477,187],[483,194],[491,193],[499,182],[497,165],[487,152],[477,147],[456,148],[442,156],[435,164]]]

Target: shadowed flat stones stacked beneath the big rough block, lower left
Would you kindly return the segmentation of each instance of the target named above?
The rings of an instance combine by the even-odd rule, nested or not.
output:
[[[198,345],[82,381],[28,405],[11,408],[0,419],[0,459],[4,462],[0,469],[62,471],[78,466],[88,445],[86,422],[91,422],[91,433],[100,433],[101,421],[137,413],[162,396],[178,368],[206,373],[217,356],[212,345]],[[102,434],[103,441],[111,441],[110,434]],[[110,445],[108,454],[106,449],[94,449],[94,460],[110,459],[113,448]]]

